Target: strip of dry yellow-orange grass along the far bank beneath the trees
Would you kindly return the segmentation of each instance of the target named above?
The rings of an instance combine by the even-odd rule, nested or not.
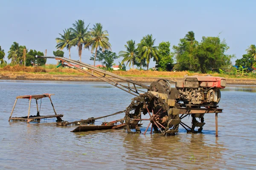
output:
[[[10,66],[7,65],[6,67],[0,68],[1,74],[51,74],[51,75],[70,75],[70,76],[83,76],[84,73],[81,73],[79,71],[76,71],[72,68],[56,68],[55,65],[46,65],[43,67],[23,67],[20,65]],[[89,71],[90,72],[90,71]],[[173,77],[173,78],[181,78],[184,75],[208,75],[208,74],[200,74],[200,73],[194,73],[189,71],[140,71],[140,70],[129,70],[129,71],[111,71],[114,74],[117,74],[122,77]],[[239,73],[212,73],[210,74],[212,76],[220,76],[230,79],[256,79],[256,74],[254,73],[245,73],[244,75],[241,75]]]

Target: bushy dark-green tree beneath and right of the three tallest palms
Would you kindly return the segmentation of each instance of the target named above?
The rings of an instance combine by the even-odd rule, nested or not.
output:
[[[93,57],[90,57],[90,60],[94,60],[95,54]],[[112,51],[105,50],[103,51],[101,48],[97,50],[96,61],[99,61],[102,65],[106,66],[106,70],[110,70],[111,66],[113,65],[114,59],[117,59],[118,56],[116,53]]]

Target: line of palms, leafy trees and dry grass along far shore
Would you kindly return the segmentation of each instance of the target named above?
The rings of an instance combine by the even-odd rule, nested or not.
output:
[[[67,49],[69,58],[72,59],[70,48],[77,47],[81,61],[82,51],[87,48],[91,50],[90,60],[93,60],[94,66],[97,61],[104,70],[143,82],[159,77],[181,79],[186,74],[209,74],[226,77],[228,83],[255,84],[256,46],[253,44],[245,49],[245,54],[236,59],[233,65],[231,59],[236,57],[235,54],[227,54],[229,46],[218,36],[204,36],[199,42],[195,40],[194,32],[189,31],[180,39],[178,45],[172,46],[172,50],[169,41],[157,45],[155,40],[152,34],[145,35],[138,43],[131,39],[124,45],[124,50],[120,49],[115,53],[111,50],[108,31],[103,29],[101,23],[90,28],[84,20],[77,20],[72,27],[64,29],[55,38],[57,45],[53,55],[64,57],[63,50]],[[85,77],[73,69],[46,65],[47,59],[36,58],[36,55],[47,55],[47,50],[44,53],[29,50],[25,45],[13,42],[7,54],[11,62],[7,63],[6,53],[0,46],[0,79],[94,81],[93,77]],[[114,63],[120,57],[122,62]],[[156,66],[149,68],[152,60],[156,62]],[[127,67],[130,70],[126,71]]]

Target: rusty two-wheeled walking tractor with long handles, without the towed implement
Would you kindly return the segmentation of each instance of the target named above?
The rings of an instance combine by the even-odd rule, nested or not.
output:
[[[226,79],[223,77],[185,76],[178,82],[158,79],[150,85],[145,85],[73,59],[37,57],[59,60],[58,66],[71,67],[136,96],[126,108],[123,119],[125,123],[122,125],[125,126],[128,133],[141,133],[139,122],[142,120],[149,121],[144,134],[150,125],[151,133],[154,129],[155,133],[159,132],[162,135],[175,135],[179,125],[187,132],[198,133],[203,130],[205,125],[204,115],[215,113],[216,136],[218,136],[218,113],[222,112],[222,109],[218,108],[218,102],[221,99],[220,90],[226,86]],[[75,67],[75,65],[91,71]],[[171,87],[172,83],[175,83],[175,88]],[[145,90],[143,91],[143,89]],[[148,114],[149,119],[142,119],[142,114]],[[190,126],[182,122],[189,115],[192,117]],[[195,130],[196,127],[198,130]],[[131,129],[136,131],[133,132]]]

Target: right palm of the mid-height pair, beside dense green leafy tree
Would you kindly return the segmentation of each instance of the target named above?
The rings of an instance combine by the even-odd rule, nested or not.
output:
[[[141,42],[138,44],[138,52],[141,56],[141,59],[146,59],[147,61],[147,70],[150,59],[153,57],[155,61],[158,61],[158,47],[154,46],[154,42],[156,39],[153,40],[152,34],[148,34]]]

